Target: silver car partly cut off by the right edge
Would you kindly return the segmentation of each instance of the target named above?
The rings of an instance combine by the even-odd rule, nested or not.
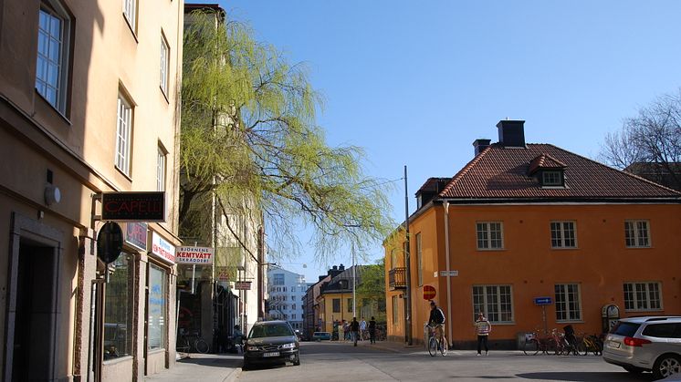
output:
[[[602,356],[631,373],[681,375],[681,316],[621,319],[605,337]]]

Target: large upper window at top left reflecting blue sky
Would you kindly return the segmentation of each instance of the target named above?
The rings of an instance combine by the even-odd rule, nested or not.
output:
[[[56,1],[38,11],[36,90],[52,107],[66,114],[70,19]]]

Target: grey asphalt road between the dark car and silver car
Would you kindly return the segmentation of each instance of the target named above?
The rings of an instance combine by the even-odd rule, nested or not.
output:
[[[600,356],[525,356],[497,351],[476,356],[473,351],[450,351],[431,357],[420,349],[396,353],[351,344],[302,343],[301,365],[244,370],[237,378],[249,381],[652,381],[651,373],[633,375],[606,364]]]

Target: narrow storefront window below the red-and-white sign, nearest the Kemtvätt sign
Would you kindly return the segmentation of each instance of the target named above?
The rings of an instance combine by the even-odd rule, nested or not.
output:
[[[149,264],[149,320],[148,346],[150,350],[162,349],[165,344],[165,271]]]

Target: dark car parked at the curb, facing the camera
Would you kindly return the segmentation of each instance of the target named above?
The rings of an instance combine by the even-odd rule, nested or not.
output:
[[[258,321],[244,346],[244,367],[291,362],[300,365],[299,340],[286,321]]]

